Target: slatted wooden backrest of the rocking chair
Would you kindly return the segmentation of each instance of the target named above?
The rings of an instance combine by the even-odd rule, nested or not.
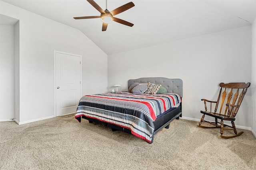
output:
[[[218,109],[218,105],[220,104],[219,113],[223,115],[227,115],[230,117],[235,117],[236,113],[242,103],[244,95],[247,92],[247,88],[250,86],[250,83],[220,83],[220,94],[218,96],[218,100],[216,103],[216,107],[214,109],[214,113],[216,113]],[[228,96],[227,96],[228,95]],[[226,104],[236,105],[234,110],[231,110],[228,113],[228,106]],[[233,107],[232,107],[233,108]],[[224,113],[222,112],[224,110]]]

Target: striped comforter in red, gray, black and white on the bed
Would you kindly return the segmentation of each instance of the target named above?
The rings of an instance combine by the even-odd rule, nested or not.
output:
[[[125,127],[150,143],[156,117],[180,102],[180,96],[174,93],[86,95],[80,99],[75,118],[81,122],[81,116],[86,116]]]

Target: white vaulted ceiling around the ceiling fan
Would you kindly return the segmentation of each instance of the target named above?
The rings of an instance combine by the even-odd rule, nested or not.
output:
[[[132,1],[133,8],[115,17],[134,26],[112,22],[101,31],[100,18],[73,19],[100,15],[86,0],[2,1],[80,29],[106,54],[243,27],[256,18],[256,0],[108,0],[109,11]],[[94,1],[106,9],[105,0]]]

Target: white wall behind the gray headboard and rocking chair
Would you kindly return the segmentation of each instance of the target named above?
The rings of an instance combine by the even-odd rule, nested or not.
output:
[[[181,78],[182,116],[199,120],[201,99],[216,100],[220,82],[251,81],[251,26],[108,56],[108,91],[116,83],[127,90],[128,79],[140,77]],[[236,115],[238,127],[250,129],[250,108],[249,90]]]

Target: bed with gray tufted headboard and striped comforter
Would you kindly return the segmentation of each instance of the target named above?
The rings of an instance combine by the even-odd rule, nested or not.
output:
[[[145,94],[114,92],[86,95],[80,99],[75,118],[100,123],[112,131],[124,131],[148,143],[170,122],[182,116],[181,79],[163,77],[128,80],[128,89],[134,84],[161,85],[167,93]]]

